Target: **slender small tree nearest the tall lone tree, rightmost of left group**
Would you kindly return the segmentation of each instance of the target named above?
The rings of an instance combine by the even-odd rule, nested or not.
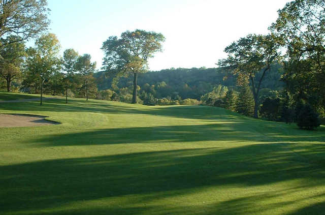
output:
[[[86,101],[88,101],[89,86],[93,85],[93,73],[96,68],[96,62],[91,63],[90,54],[84,54],[77,58],[76,70],[81,74],[84,83],[84,95]],[[91,84],[92,83],[92,84]]]

